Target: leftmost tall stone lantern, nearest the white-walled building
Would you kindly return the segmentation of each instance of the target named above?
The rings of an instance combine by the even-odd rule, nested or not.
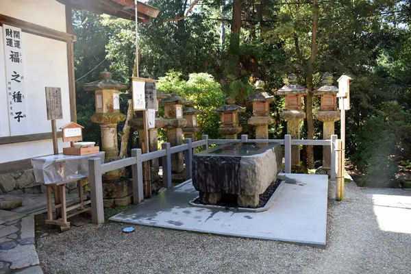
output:
[[[101,149],[105,152],[105,162],[119,160],[117,142],[117,124],[125,121],[125,114],[120,113],[120,90],[128,90],[129,86],[112,80],[112,73],[104,70],[101,79],[84,85],[84,90],[95,92],[96,113],[91,116],[101,129]],[[103,175],[106,182],[120,179],[120,171],[110,171]]]

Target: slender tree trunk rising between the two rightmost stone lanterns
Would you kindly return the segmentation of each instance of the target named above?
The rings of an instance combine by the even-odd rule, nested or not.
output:
[[[319,25],[319,4],[317,0],[312,2],[313,12],[312,12],[312,35],[311,35],[311,55],[308,60],[307,67],[307,88],[308,95],[306,96],[306,115],[307,115],[307,138],[314,138],[314,119],[312,116],[312,90],[314,89],[314,84],[312,82],[312,75],[314,73],[314,62],[316,60],[316,38],[317,30]],[[312,146],[307,146],[307,167],[308,169],[314,169],[314,151]]]

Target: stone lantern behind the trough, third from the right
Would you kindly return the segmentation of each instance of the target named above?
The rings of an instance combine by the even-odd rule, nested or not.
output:
[[[275,123],[270,116],[270,102],[275,101],[275,97],[264,92],[264,86],[264,82],[257,81],[257,91],[247,98],[253,103],[253,116],[248,119],[248,123],[256,127],[256,139],[268,139],[269,125]]]

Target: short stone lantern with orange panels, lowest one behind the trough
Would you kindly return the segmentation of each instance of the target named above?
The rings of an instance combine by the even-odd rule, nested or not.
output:
[[[238,112],[245,112],[245,108],[234,105],[234,99],[225,98],[225,105],[214,110],[221,114],[221,126],[219,132],[225,135],[226,139],[236,139],[242,127],[238,125]]]

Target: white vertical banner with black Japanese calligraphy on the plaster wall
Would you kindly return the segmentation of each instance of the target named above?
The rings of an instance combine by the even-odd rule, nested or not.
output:
[[[21,29],[3,25],[5,79],[7,81],[10,135],[27,134],[27,112]]]

